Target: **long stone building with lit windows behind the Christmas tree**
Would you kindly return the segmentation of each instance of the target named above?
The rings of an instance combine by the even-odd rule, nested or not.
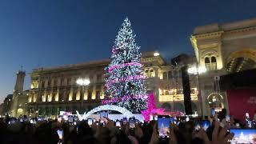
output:
[[[180,66],[167,64],[156,51],[142,53],[142,69],[146,89],[154,93],[158,107],[184,111]],[[27,110],[31,116],[58,115],[59,111],[80,113],[101,105],[104,99],[104,68],[110,60],[34,69],[30,74],[30,94]],[[88,86],[78,86],[78,78],[90,79]],[[191,97],[198,109],[198,81],[191,78]]]

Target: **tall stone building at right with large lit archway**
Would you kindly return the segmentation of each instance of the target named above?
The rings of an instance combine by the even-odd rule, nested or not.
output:
[[[219,76],[256,68],[256,19],[198,26],[190,41],[198,66],[207,69],[198,75],[203,114],[209,115],[211,108],[228,110]]]

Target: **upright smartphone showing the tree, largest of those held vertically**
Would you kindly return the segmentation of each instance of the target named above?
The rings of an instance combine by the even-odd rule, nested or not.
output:
[[[164,139],[169,138],[168,133],[170,133],[170,117],[169,115],[159,115],[158,116],[158,138]]]

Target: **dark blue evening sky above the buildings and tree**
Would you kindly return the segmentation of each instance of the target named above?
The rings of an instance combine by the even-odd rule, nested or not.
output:
[[[132,22],[142,51],[165,58],[193,53],[195,26],[256,17],[254,0],[0,0],[0,102],[12,93],[17,70],[109,58],[123,19]]]

